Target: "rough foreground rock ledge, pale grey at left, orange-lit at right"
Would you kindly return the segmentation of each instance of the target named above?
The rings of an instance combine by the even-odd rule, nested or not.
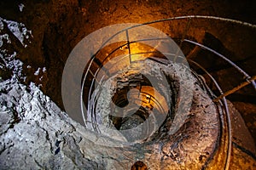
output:
[[[200,129],[206,127],[206,121],[214,120],[214,116],[209,119],[209,116],[202,116],[196,109],[193,114],[201,117],[201,121],[196,122],[198,128],[187,123],[184,133],[190,133],[189,136],[183,137],[181,133],[177,133],[172,137],[166,136],[164,144],[153,142],[115,148],[113,146],[117,144],[111,139],[99,138],[99,134],[73,122],[34,84],[26,87],[12,79],[0,82],[0,87],[0,167],[3,169],[127,169],[137,159],[144,160],[147,164],[153,163],[156,169],[160,169],[163,165],[173,163],[173,166],[179,167],[184,154],[200,156],[199,150],[204,148],[211,151],[214,147],[211,140],[216,139],[216,133]],[[198,105],[198,101],[195,101],[195,105]],[[212,128],[218,132],[218,126]],[[197,137],[192,135],[200,130]],[[191,139],[197,143],[189,144]],[[207,145],[199,143],[201,139],[207,139]],[[98,145],[98,140],[108,146]],[[181,144],[182,150],[178,149]],[[197,150],[191,150],[195,145]],[[173,147],[175,151],[168,149],[169,147]],[[148,155],[148,151],[153,155]],[[196,167],[200,168],[204,164],[203,161],[191,158],[189,166],[197,162]],[[160,164],[161,159],[164,160]],[[187,165],[185,161],[183,163]]]

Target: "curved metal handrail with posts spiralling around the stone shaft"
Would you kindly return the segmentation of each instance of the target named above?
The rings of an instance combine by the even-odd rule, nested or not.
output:
[[[134,43],[134,42],[143,42],[143,41],[147,41],[146,39],[142,39],[142,40],[137,40],[137,41],[134,41],[134,42],[130,42],[129,41],[129,35],[128,35],[128,30],[132,29],[132,28],[135,28],[135,27],[138,27],[138,26],[144,26],[144,25],[150,25],[150,24],[154,24],[154,23],[159,23],[159,22],[166,22],[166,21],[171,21],[171,20],[184,20],[184,19],[189,19],[189,23],[191,21],[191,19],[207,19],[207,20],[221,20],[221,21],[225,21],[225,22],[230,22],[230,23],[235,23],[235,24],[238,24],[238,25],[241,25],[241,26],[247,26],[247,27],[251,27],[253,29],[256,29],[256,25],[253,25],[253,24],[250,24],[250,23],[247,23],[247,22],[243,22],[243,21],[240,21],[240,20],[231,20],[231,19],[225,19],[225,18],[221,18],[221,17],[215,17],[215,16],[204,16],[204,15],[189,15],[189,16],[178,16],[178,17],[172,17],[172,18],[168,18],[168,19],[162,19],[162,20],[154,20],[154,21],[149,21],[149,22],[146,22],[146,23],[143,23],[143,24],[138,24],[136,26],[131,26],[131,27],[127,27],[121,31],[118,31],[116,32],[115,34],[113,34],[112,37],[109,37],[108,40],[106,42],[103,42],[102,43],[102,46],[101,48],[98,49],[98,51],[96,52],[96,54],[94,54],[92,57],[91,57],[91,60],[90,60],[90,65],[88,67],[88,70],[90,69],[90,66],[93,62],[93,60],[96,58],[96,55],[101,51],[101,49],[111,40],[113,39],[113,37],[119,35],[120,33],[126,31],[126,37],[127,37],[127,42],[124,43],[123,45],[119,46],[118,48],[115,48],[113,51],[111,51],[110,54],[108,54],[108,56],[105,58],[107,59],[109,57],[109,55],[113,54],[115,51],[117,51],[120,47],[124,47],[125,45],[128,45],[128,48],[130,46],[131,43]],[[189,26],[189,25],[187,25]],[[188,29],[188,28],[186,28]],[[153,38],[152,40],[157,40],[157,38]],[[212,99],[213,102],[220,102],[220,104],[223,104],[224,105],[224,111],[226,113],[226,121],[227,121],[227,128],[228,128],[228,148],[227,148],[227,157],[226,157],[226,160],[225,160],[225,166],[224,168],[225,169],[229,169],[230,167],[230,156],[231,156],[231,147],[232,147],[232,133],[231,133],[231,121],[230,121],[230,111],[229,111],[229,107],[228,107],[228,104],[227,104],[227,100],[225,99],[225,97],[227,95],[230,95],[230,94],[233,94],[235,93],[238,89],[240,88],[243,88],[245,86],[247,86],[248,84],[252,84],[253,85],[253,88],[256,89],[256,76],[253,76],[253,77],[250,77],[246,71],[243,71],[238,65],[236,65],[234,62],[232,62],[230,59],[226,58],[223,54],[219,54],[217,51],[215,51],[214,49],[212,48],[208,48],[207,46],[201,44],[201,43],[198,43],[198,42],[194,42],[194,41],[191,41],[189,39],[183,39],[182,38],[182,42],[189,42],[189,43],[192,43],[202,49],[206,49],[207,51],[211,52],[212,54],[215,54],[217,55],[219,58],[221,59],[224,59],[226,62],[228,62],[230,65],[232,65],[234,68],[236,68],[237,71],[241,72],[241,74],[246,77],[246,82],[242,82],[239,86],[235,87],[235,88],[232,88],[230,89],[229,91],[226,91],[226,92],[223,92],[223,90],[220,88],[220,86],[218,85],[218,82],[214,79],[214,77],[212,77],[212,75],[206,70],[204,69],[204,67],[202,67],[201,65],[199,65],[198,63],[196,63],[195,61],[189,59],[189,61],[195,65],[197,65],[199,68],[201,68],[202,71],[204,71],[208,77],[210,77],[210,79],[212,80],[212,82],[215,84],[216,88],[218,88],[218,91],[220,93],[220,95],[215,98],[215,99]],[[148,54],[150,53],[155,53],[155,52],[148,52]],[[137,53],[137,54],[145,54],[145,53]],[[129,48],[129,56],[131,58],[131,56],[134,55],[134,54],[131,54],[131,50]],[[176,56],[176,54],[172,54],[174,56]],[[103,59],[103,61],[105,61],[105,59]],[[131,59],[130,59],[131,61]],[[156,62],[159,62],[157,60],[155,60]],[[101,67],[101,65],[100,65]],[[87,74],[89,71],[86,71],[85,75],[84,75],[84,79],[83,79],[83,86],[82,86],[82,92],[83,92],[83,88],[84,88],[84,82],[86,80],[86,77],[87,77]],[[96,71],[97,73],[98,71]],[[95,75],[92,75],[94,77],[94,79],[96,79],[96,74]],[[82,93],[81,93],[81,99],[82,99]],[[91,94],[89,94],[90,96]],[[221,100],[220,100],[221,99]]]

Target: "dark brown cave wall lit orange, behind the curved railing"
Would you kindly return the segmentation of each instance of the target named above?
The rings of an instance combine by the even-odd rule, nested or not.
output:
[[[22,11],[19,9],[20,3],[23,3],[25,7]],[[68,54],[70,54],[73,47],[85,36],[93,31],[102,28],[103,26],[109,26],[111,24],[134,22],[143,23],[150,20],[160,20],[163,18],[169,18],[178,15],[190,15],[190,14],[204,14],[204,15],[216,15],[236,20],[244,20],[255,24],[255,5],[253,1],[57,1],[57,0],[44,0],[44,1],[1,1],[0,14],[6,20],[17,20],[26,25],[29,30],[32,30],[31,43],[27,43],[27,48],[20,46],[19,43],[15,46],[17,51],[17,57],[24,62],[23,69],[26,73],[26,83],[36,82],[37,85],[41,84],[40,87],[44,91],[44,94],[49,95],[54,102],[61,107],[63,110],[63,105],[61,102],[61,74],[64,68]],[[172,24],[159,23],[152,26],[159,28],[161,31],[166,32],[168,35],[174,38],[180,38],[183,36],[185,27],[188,21],[173,21]],[[216,48],[219,52],[224,53],[230,59],[237,61],[239,65],[242,66],[251,75],[255,75],[256,71],[254,68],[255,63],[255,44],[256,35],[252,29],[243,29],[243,26],[226,25],[221,22],[215,22],[211,20],[192,20],[190,23],[191,27],[189,31],[186,32],[186,37],[192,38],[197,42],[202,42],[207,46]],[[209,36],[210,35],[210,36]],[[208,37],[207,37],[208,36]],[[216,42],[213,43],[213,41]],[[12,40],[15,41],[15,37]],[[200,58],[196,58],[198,54],[204,59],[209,59],[207,62],[203,62]],[[221,82],[221,86],[225,90],[233,88],[237,83],[232,77],[236,76],[232,68],[228,65],[224,65],[223,62],[219,62],[217,59],[212,59],[212,55],[206,55],[201,51],[197,51],[195,54],[191,54],[191,59],[197,59],[202,65],[207,68],[212,69],[212,73],[215,77],[218,77],[218,82]],[[212,59],[212,60],[211,60]],[[240,62],[241,61],[241,62]],[[218,65],[213,63],[217,62]],[[209,64],[210,63],[210,64]],[[220,66],[219,66],[220,65]],[[43,71],[45,67],[46,71]],[[215,67],[217,69],[215,69]],[[228,68],[226,68],[228,67]],[[34,73],[38,72],[38,75]],[[230,72],[232,74],[230,74]],[[229,80],[228,82],[226,80]],[[241,78],[239,79],[241,81]],[[238,81],[238,82],[239,82]],[[16,85],[23,87],[23,85]],[[19,88],[18,88],[19,89]],[[18,90],[19,91],[19,90]],[[19,91],[19,93],[21,93]],[[246,90],[241,90],[238,94],[240,97],[249,94],[252,99],[247,101],[247,105],[242,103],[236,97],[236,105],[239,111],[242,113],[247,113],[247,108],[250,109],[250,114],[253,115],[255,111],[255,106],[252,103],[254,99],[254,91],[251,88]],[[42,94],[43,95],[43,94]],[[239,96],[239,95],[238,95]],[[38,98],[38,96],[35,96]],[[239,97],[238,97],[239,98]],[[17,97],[17,99],[20,99]],[[8,99],[7,99],[8,100]],[[29,103],[27,101],[27,103]],[[43,103],[46,99],[43,99]],[[40,103],[40,101],[38,101]],[[50,112],[50,111],[49,111]],[[57,117],[60,118],[61,114],[59,111]],[[35,115],[37,113],[34,113]],[[49,115],[49,113],[47,113]],[[47,115],[46,114],[46,115]],[[63,113],[64,114],[64,113]],[[47,116],[48,116],[47,115]],[[41,115],[39,115],[41,116]],[[247,116],[246,114],[243,116]],[[41,119],[44,114],[39,117]],[[248,116],[251,119],[251,116]],[[27,118],[27,117],[26,117]],[[30,117],[28,117],[30,118]],[[63,117],[61,117],[62,119]],[[11,120],[12,117],[9,117]],[[68,119],[64,117],[64,119]],[[54,122],[54,118],[50,118],[51,122]],[[70,120],[68,120],[70,121]],[[26,121],[24,124],[26,124]],[[250,123],[255,122],[255,116],[251,119]],[[33,122],[35,126],[38,126],[37,122]],[[42,122],[39,125],[47,127],[47,125]],[[61,122],[65,124],[65,122]],[[73,122],[75,126],[77,125]],[[21,126],[21,125],[19,125]],[[38,126],[39,133],[43,133],[44,129]],[[64,127],[66,125],[63,125]],[[71,125],[70,125],[71,126]],[[63,127],[63,128],[64,128]],[[251,130],[255,126],[251,126]],[[19,129],[18,127],[16,127]],[[71,127],[70,132],[73,133],[74,130]],[[79,127],[80,128],[80,127]],[[55,131],[55,130],[54,130]],[[54,131],[49,131],[54,133]],[[62,131],[69,131],[65,129]],[[83,131],[83,130],[81,130]],[[251,131],[253,133],[255,131]],[[28,133],[28,132],[26,132]],[[73,134],[72,134],[73,135]],[[76,134],[80,135],[80,134]],[[45,136],[45,137],[44,137]],[[44,134],[46,140],[50,140],[48,144],[44,144],[50,150],[50,156],[55,154],[58,150],[57,146],[51,147],[50,144],[55,144],[57,137],[52,134],[49,135],[51,139],[47,139],[47,133]],[[42,140],[44,139],[42,137]],[[60,137],[62,138],[62,136]],[[66,138],[66,137],[65,137]],[[62,141],[64,141],[63,139]],[[78,142],[76,142],[78,140]],[[34,140],[33,140],[34,141]],[[36,141],[36,139],[35,139]],[[64,155],[70,156],[72,159],[76,159],[75,156],[71,154],[73,151],[73,146],[76,147],[75,143],[79,143],[79,139],[66,139],[67,143],[63,144]],[[22,143],[25,144],[26,142]],[[86,142],[85,142],[86,143]],[[22,145],[21,144],[21,145]],[[82,143],[83,144],[83,143]],[[10,144],[11,145],[11,144]],[[81,145],[81,144],[80,144]],[[38,147],[38,146],[37,146]],[[253,146],[252,146],[253,147]],[[79,149],[78,149],[79,150]],[[84,149],[86,153],[86,149]],[[81,156],[80,153],[78,153]],[[4,157],[2,155],[2,157]],[[82,156],[83,157],[83,156]],[[68,158],[67,158],[68,159]],[[100,158],[99,158],[100,159]],[[32,160],[32,159],[30,159]],[[49,160],[50,161],[50,160]],[[88,160],[82,159],[82,163],[87,163]],[[98,160],[97,160],[98,161]],[[44,162],[44,160],[42,160]],[[101,161],[98,161],[102,163]],[[33,162],[37,164],[37,161]],[[80,161],[76,162],[82,164]],[[96,167],[95,162],[90,162],[90,164]],[[103,164],[103,163],[102,163]],[[52,163],[53,166],[58,166]],[[19,166],[18,164],[16,166]],[[38,167],[47,167],[46,165],[37,165]],[[100,167],[102,165],[99,165]],[[236,163],[233,164],[236,167]]]

